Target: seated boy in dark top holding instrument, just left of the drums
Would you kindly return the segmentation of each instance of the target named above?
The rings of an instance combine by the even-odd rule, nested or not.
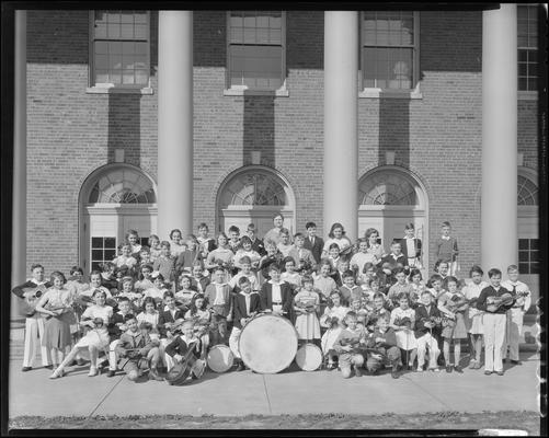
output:
[[[192,359],[195,361],[192,366],[191,377],[193,379],[198,379],[206,367],[206,362],[202,359],[205,355],[205,347],[201,338],[195,335],[193,321],[185,321],[182,331],[183,334],[174,337],[173,341],[168,344],[165,354],[172,358],[170,361],[171,364],[180,364],[183,359],[188,360],[191,355],[194,356]],[[173,365],[169,367],[168,371],[170,371]]]

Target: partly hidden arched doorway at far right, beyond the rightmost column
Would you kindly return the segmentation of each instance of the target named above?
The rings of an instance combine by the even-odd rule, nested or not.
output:
[[[528,168],[518,168],[518,272],[521,280],[531,290],[533,306],[539,298],[539,198],[537,173]]]

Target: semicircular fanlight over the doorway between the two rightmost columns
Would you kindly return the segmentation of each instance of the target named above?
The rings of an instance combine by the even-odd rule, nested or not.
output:
[[[379,172],[358,188],[361,205],[416,205],[415,187],[402,175]]]

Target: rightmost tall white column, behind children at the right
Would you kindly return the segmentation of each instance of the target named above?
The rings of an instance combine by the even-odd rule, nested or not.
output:
[[[504,274],[517,263],[516,4],[482,12],[481,260]]]

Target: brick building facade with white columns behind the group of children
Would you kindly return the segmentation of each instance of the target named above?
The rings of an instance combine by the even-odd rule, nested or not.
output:
[[[261,235],[282,210],[293,232],[313,220],[325,238],[341,221],[353,239],[379,229],[386,246],[414,222],[430,267],[448,220],[461,276],[519,263],[537,293],[537,22],[524,4],[27,11],[21,264],[89,270],[130,228],[163,240],[202,221],[215,233],[255,222]],[[494,74],[483,58],[500,49],[494,62],[508,68]],[[492,99],[493,81],[511,94]],[[513,123],[483,125],[502,102],[516,135]],[[516,169],[513,191],[483,163],[494,141],[492,165]],[[483,192],[487,181],[500,192]],[[517,221],[483,212],[481,196]],[[492,245],[489,231],[508,242]]]

